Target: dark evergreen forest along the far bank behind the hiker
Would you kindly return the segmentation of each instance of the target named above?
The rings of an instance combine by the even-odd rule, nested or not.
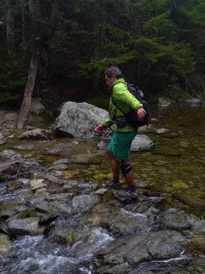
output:
[[[150,97],[202,100],[204,25],[204,0],[2,0],[1,107],[20,107],[33,55],[33,97],[103,95],[117,65]]]

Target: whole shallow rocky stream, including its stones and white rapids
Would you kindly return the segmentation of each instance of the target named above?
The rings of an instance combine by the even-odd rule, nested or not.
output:
[[[152,127],[169,130],[150,130],[154,147],[131,155],[137,201],[102,187],[111,171],[106,151],[96,149],[100,138],[11,134],[0,153],[14,153],[1,159],[23,164],[0,184],[0,273],[205,274],[204,105],[152,114]],[[53,152],[65,143],[76,161]],[[85,153],[94,159],[79,160]]]

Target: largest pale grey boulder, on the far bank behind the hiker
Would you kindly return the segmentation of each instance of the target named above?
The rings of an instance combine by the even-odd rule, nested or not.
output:
[[[68,132],[74,137],[95,137],[94,127],[105,118],[108,112],[88,103],[75,103],[68,101],[61,108],[61,114],[55,119],[53,129],[55,132]],[[100,134],[107,135],[108,132]]]

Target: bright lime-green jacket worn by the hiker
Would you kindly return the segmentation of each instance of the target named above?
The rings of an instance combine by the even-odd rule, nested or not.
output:
[[[127,113],[131,108],[137,110],[137,108],[143,108],[143,105],[136,99],[131,92],[128,91],[126,82],[123,78],[120,78],[113,82],[110,86],[111,96],[116,101],[119,108]],[[115,116],[115,117],[114,117]],[[113,105],[111,98],[109,100],[109,118],[102,121],[104,127],[111,127],[113,132],[135,132],[137,131],[136,127],[131,125],[126,125],[125,127],[117,127],[113,119],[122,117],[124,114]]]

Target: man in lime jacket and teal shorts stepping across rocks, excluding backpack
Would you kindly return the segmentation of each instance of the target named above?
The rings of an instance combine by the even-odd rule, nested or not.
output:
[[[137,127],[128,124],[124,114],[115,107],[113,100],[115,100],[124,113],[128,112],[130,108],[135,109],[139,119],[143,119],[146,116],[146,110],[142,108],[143,105],[135,96],[128,91],[126,82],[117,66],[111,66],[105,71],[105,82],[111,91],[109,118],[102,121],[94,129],[96,132],[102,132],[103,129],[110,127],[113,131],[108,147],[113,179],[109,181],[105,188],[122,189],[120,185],[121,170],[128,189],[120,193],[120,196],[137,198],[132,166],[128,163],[131,153],[131,143],[137,134]]]

